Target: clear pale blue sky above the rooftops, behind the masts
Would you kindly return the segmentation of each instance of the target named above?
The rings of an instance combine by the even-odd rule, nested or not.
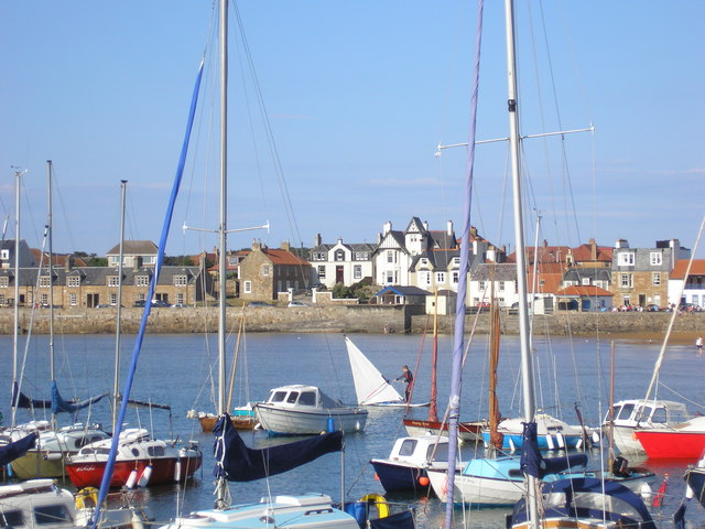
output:
[[[478,139],[508,134],[502,2],[484,13]],[[235,6],[231,3],[231,6]],[[53,161],[55,251],[158,241],[200,57],[200,106],[169,255],[218,226],[214,6],[206,0],[0,3],[0,215],[42,246]],[[705,214],[705,2],[517,2],[527,239],[693,248]],[[247,0],[230,10],[228,227],[310,247],[376,242],[387,222],[463,222],[475,1]],[[246,35],[246,44],[239,29]],[[249,57],[249,58],[248,58]],[[252,73],[254,75],[252,75]],[[256,82],[253,80],[256,79]],[[471,224],[513,248],[507,142],[480,144]],[[536,217],[541,227],[535,237]],[[701,248],[698,257],[705,258]]]

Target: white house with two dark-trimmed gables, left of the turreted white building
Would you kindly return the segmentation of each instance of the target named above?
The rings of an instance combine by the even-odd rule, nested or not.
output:
[[[375,248],[368,242],[346,244],[341,238],[335,245],[324,244],[321,234],[316,234],[314,246],[308,251],[313,283],[332,289],[337,283],[350,287],[362,279],[371,279]]]

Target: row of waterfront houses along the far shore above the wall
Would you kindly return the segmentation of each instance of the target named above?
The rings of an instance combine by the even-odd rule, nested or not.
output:
[[[500,306],[518,302],[513,253],[482,238],[476,228],[467,234],[470,248],[467,304],[482,306],[491,298]],[[0,304],[14,303],[14,241],[0,247]],[[685,279],[691,251],[677,239],[657,241],[653,248],[630,248],[625,239],[614,247],[595,240],[572,248],[546,241],[527,249],[530,304],[536,312],[555,310],[612,310],[614,307],[665,306],[688,303],[705,306],[705,261],[694,261]],[[107,253],[108,267],[86,267],[74,256],[52,256],[47,261],[24,241],[19,245],[19,302],[22,305],[53,303],[62,306],[116,304],[122,285],[122,304],[139,304],[148,295],[156,259],[151,241],[124,241],[123,273],[118,277],[119,246]],[[191,258],[194,266],[163,267],[155,299],[170,304],[194,305],[215,301],[217,253]],[[366,281],[379,287],[378,303],[408,303],[424,293],[457,292],[459,240],[448,222],[443,230],[431,230],[419,217],[405,229],[386,223],[375,244],[347,244],[339,238],[324,244],[316,235],[308,259],[293,252],[288,242],[269,248],[256,240],[251,248],[227,256],[228,291],[247,301],[273,301],[283,292],[350,287]],[[51,295],[50,295],[51,290]],[[683,292],[683,293],[681,293]],[[451,305],[452,303],[448,303]]]

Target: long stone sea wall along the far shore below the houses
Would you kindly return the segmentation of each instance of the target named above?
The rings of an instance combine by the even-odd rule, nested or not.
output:
[[[237,331],[246,315],[248,332],[279,333],[423,333],[433,326],[433,319],[422,313],[423,307],[389,305],[322,305],[304,307],[258,306],[228,307],[227,326]],[[48,333],[48,310],[34,313],[32,333]],[[12,334],[12,309],[0,310],[0,334]],[[662,335],[672,314],[668,312],[579,313],[536,315],[534,327],[552,335]],[[141,309],[122,310],[122,332],[137,333],[142,317]],[[153,309],[148,322],[151,333],[202,333],[218,328],[217,307]],[[21,334],[30,331],[31,310],[20,311]],[[454,316],[438,316],[442,334],[453,332]],[[519,333],[517,315],[502,314],[502,332]],[[477,333],[489,332],[487,313],[467,314],[466,328]],[[54,330],[62,334],[110,334],[116,331],[115,309],[57,309],[54,310]],[[675,317],[675,334],[705,333],[705,312],[681,314]]]

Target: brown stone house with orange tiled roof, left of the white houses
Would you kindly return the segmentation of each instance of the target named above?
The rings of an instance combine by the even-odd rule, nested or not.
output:
[[[290,251],[289,242],[272,249],[260,241],[239,264],[240,298],[274,301],[280,292],[304,289],[311,282],[311,263]]]

